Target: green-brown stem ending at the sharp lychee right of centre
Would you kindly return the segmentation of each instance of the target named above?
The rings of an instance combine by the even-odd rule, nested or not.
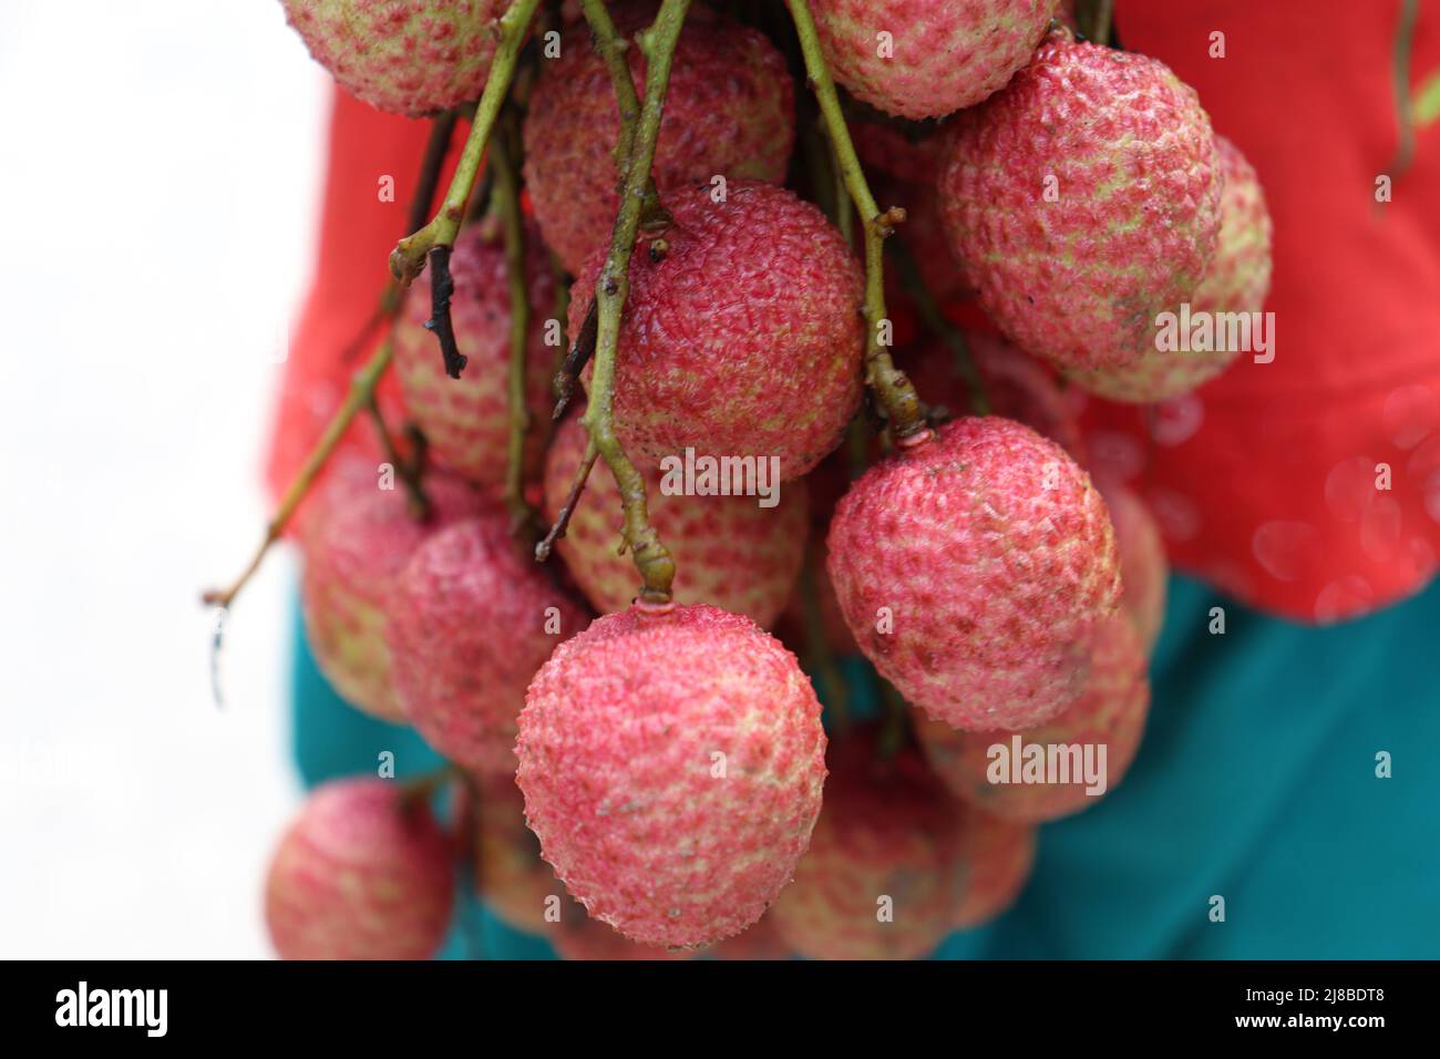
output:
[[[880,212],[876,197],[870,193],[870,184],[860,167],[855,156],[855,146],[850,140],[850,130],[845,127],[845,115],[840,108],[840,95],[835,92],[835,81],[825,65],[825,55],[819,48],[819,37],[815,33],[815,19],[811,16],[809,0],[786,0],[791,6],[791,17],[795,20],[795,32],[801,40],[801,53],[805,56],[805,73],[809,78],[811,89],[819,104],[825,118],[825,128],[829,131],[829,143],[835,150],[835,160],[840,164],[841,176],[845,180],[845,190],[850,192],[860,222],[865,229],[865,382],[880,396],[880,403],[890,419],[891,437],[899,444],[917,444],[927,437],[929,426],[924,422],[924,406],[916,396],[914,386],[904,372],[894,366],[883,340],[883,333],[888,330],[886,318],[886,277],[884,277],[884,242],[894,232],[896,225],[904,220],[904,210],[899,206]]]

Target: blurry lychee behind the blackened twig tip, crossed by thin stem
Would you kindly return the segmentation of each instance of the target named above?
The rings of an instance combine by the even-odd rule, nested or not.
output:
[[[544,327],[554,304],[554,280],[531,232],[527,242],[530,337],[526,347],[526,405],[530,434],[526,460],[537,468],[544,424],[550,418],[550,376],[556,349],[546,346]],[[468,359],[459,379],[445,375],[431,318],[431,274],[410,288],[395,329],[395,373],[405,406],[425,432],[431,452],[445,467],[480,486],[505,480],[510,444],[510,287],[503,241],[487,225],[471,225],[451,255],[451,321],[455,343]]]

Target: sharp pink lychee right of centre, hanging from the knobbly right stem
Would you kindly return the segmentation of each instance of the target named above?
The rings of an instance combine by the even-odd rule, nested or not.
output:
[[[828,545],[860,650],[906,700],[971,730],[1031,728],[1074,703],[1089,638],[1120,595],[1090,477],[996,416],[946,424],[871,467]]]

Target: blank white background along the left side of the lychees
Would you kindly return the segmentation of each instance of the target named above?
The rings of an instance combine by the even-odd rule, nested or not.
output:
[[[268,350],[327,78],[278,0],[0,3],[0,957],[262,957],[298,803]]]

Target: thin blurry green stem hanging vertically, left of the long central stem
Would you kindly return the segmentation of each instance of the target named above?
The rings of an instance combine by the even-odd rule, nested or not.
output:
[[[510,280],[510,448],[505,465],[505,507],[517,532],[528,529],[534,511],[526,503],[526,434],[530,409],[526,401],[526,352],[530,341],[530,290],[526,284],[526,228],[520,215],[520,173],[505,130],[490,144],[495,174],[494,202],[505,232],[505,275]],[[533,539],[533,537],[531,537]]]

